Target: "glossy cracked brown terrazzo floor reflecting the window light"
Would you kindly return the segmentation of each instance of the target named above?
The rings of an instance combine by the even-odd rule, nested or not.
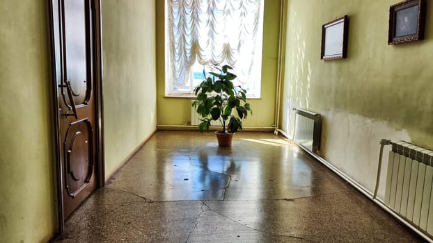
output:
[[[284,137],[157,132],[56,242],[422,242]]]

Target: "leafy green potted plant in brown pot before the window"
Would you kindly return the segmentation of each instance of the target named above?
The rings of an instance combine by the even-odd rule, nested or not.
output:
[[[219,74],[210,72],[210,76],[205,76],[203,82],[194,90],[196,101],[192,103],[196,112],[202,117],[198,129],[200,133],[209,132],[211,121],[220,121],[222,131],[216,131],[219,146],[231,146],[233,134],[242,130],[242,120],[253,111],[250,104],[246,103],[246,90],[240,85],[233,85],[236,75],[228,72],[233,69],[228,65],[212,65],[219,70]],[[235,112],[234,112],[235,111]],[[233,114],[237,114],[237,117]]]

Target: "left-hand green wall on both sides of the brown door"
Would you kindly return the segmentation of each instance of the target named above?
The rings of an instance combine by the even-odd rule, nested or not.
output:
[[[106,176],[156,129],[155,1],[102,1]],[[56,187],[47,1],[0,6],[0,242],[48,242]]]

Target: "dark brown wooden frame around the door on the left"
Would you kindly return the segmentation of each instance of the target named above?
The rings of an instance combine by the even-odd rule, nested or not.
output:
[[[61,0],[49,0],[49,31],[50,31],[50,58],[52,74],[52,109],[53,109],[53,133],[54,133],[54,160],[55,160],[55,181],[56,183],[56,212],[57,225],[56,233],[62,234],[65,229],[65,216],[63,215],[63,161],[61,161],[61,135],[60,128],[60,111],[58,103],[58,78],[61,77],[61,51],[56,49],[56,43],[60,42],[61,24],[59,18],[61,10],[59,9]],[[84,0],[83,0],[84,1]],[[89,0],[92,8],[93,26],[91,35],[93,38],[93,62],[95,63],[93,87],[95,94],[95,133],[96,133],[96,187],[103,187],[105,184],[104,169],[104,106],[102,96],[102,12],[101,0]]]

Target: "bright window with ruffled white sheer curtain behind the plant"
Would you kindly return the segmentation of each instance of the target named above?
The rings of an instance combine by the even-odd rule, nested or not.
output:
[[[203,67],[220,64],[260,98],[263,0],[166,0],[165,22],[167,96],[194,95]]]

